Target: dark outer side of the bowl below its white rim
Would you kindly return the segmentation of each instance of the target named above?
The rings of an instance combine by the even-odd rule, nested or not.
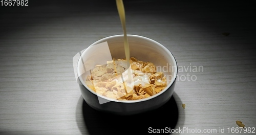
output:
[[[78,81],[80,80],[78,79]],[[166,89],[166,91],[164,91],[163,93],[159,94],[154,98],[151,98],[145,101],[138,100],[138,102],[133,102],[133,103],[110,101],[110,102],[100,104],[98,98],[101,98],[101,97],[98,97],[97,95],[90,92],[80,82],[79,82],[79,87],[80,87],[80,91],[83,99],[92,108],[99,111],[105,111],[106,113],[116,114],[116,115],[135,115],[135,114],[140,114],[146,111],[159,108],[163,104],[165,104],[173,95],[175,83],[176,83],[176,80],[173,82],[172,85],[170,85],[168,89]],[[106,99],[101,98],[100,100],[106,100]]]

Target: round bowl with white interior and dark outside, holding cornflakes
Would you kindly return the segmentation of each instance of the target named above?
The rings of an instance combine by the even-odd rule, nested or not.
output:
[[[123,35],[105,37],[84,50],[77,63],[77,81],[82,97],[89,106],[96,110],[116,115],[135,115],[161,107],[173,95],[178,71],[173,54],[153,39],[139,35],[127,35],[127,38],[130,57],[154,63],[157,72],[163,72],[165,75],[167,86],[160,93],[139,100],[124,101],[97,95],[85,83],[90,74],[90,66],[95,66],[102,61],[106,62],[105,59],[125,58]],[[104,43],[107,43],[107,46],[102,46]]]

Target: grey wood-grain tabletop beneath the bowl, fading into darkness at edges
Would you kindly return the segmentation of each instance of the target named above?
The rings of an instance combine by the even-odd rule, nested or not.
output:
[[[256,132],[252,3],[124,1],[127,34],[162,43],[179,66],[172,99],[129,117],[89,107],[73,71],[76,53],[122,34],[115,1],[28,5],[0,6],[0,134],[228,134],[237,120]]]

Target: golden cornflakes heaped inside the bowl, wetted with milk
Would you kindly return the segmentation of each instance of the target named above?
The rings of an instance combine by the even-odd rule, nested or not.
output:
[[[162,72],[157,72],[154,63],[132,57],[130,65],[125,59],[113,59],[106,61],[105,65],[96,65],[87,77],[86,84],[97,94],[118,100],[148,98],[166,87],[166,78]],[[129,70],[132,76],[126,73]],[[133,77],[132,82],[127,79],[129,77]]]

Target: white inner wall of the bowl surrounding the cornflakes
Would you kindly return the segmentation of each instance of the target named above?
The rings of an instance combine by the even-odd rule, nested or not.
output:
[[[142,36],[137,36],[137,35],[127,35],[127,38],[129,40],[130,57],[135,57],[137,60],[140,60],[140,61],[152,62],[156,65],[157,72],[164,73],[167,80],[167,86],[159,94],[166,91],[166,89],[170,85],[172,85],[172,83],[174,82],[177,76],[177,63],[172,53],[170,53],[169,50],[167,50],[164,46],[162,46],[162,44],[152,39],[142,37]],[[95,46],[95,44],[102,43],[105,41],[108,42],[108,46],[109,46],[109,50],[112,58],[116,58],[116,59],[125,58],[123,35],[116,35],[116,36],[103,38],[101,40],[94,42],[91,46]],[[90,57],[97,57],[97,54],[101,53],[99,52],[100,50],[102,51],[102,53],[105,51],[105,50],[102,50],[101,48],[98,48],[98,50],[90,50],[90,47],[87,48],[81,54],[81,57],[79,58],[78,65],[77,65],[77,74],[79,76],[80,81],[89,91],[91,91],[94,94],[96,93],[92,91],[89,87],[87,87],[87,85],[84,83],[86,80],[86,77],[90,74],[90,72],[84,71],[83,63],[88,62],[88,60],[90,61]],[[91,61],[91,62],[95,62],[95,61]],[[95,63],[95,65],[96,64],[97,63]],[[159,94],[156,94],[150,98],[154,98]],[[103,98],[106,98],[106,97],[103,97]],[[148,100],[150,98],[145,98],[141,100]],[[108,99],[108,100],[113,100],[113,99]],[[113,101],[138,102],[140,100],[132,100],[132,101],[113,100]]]

